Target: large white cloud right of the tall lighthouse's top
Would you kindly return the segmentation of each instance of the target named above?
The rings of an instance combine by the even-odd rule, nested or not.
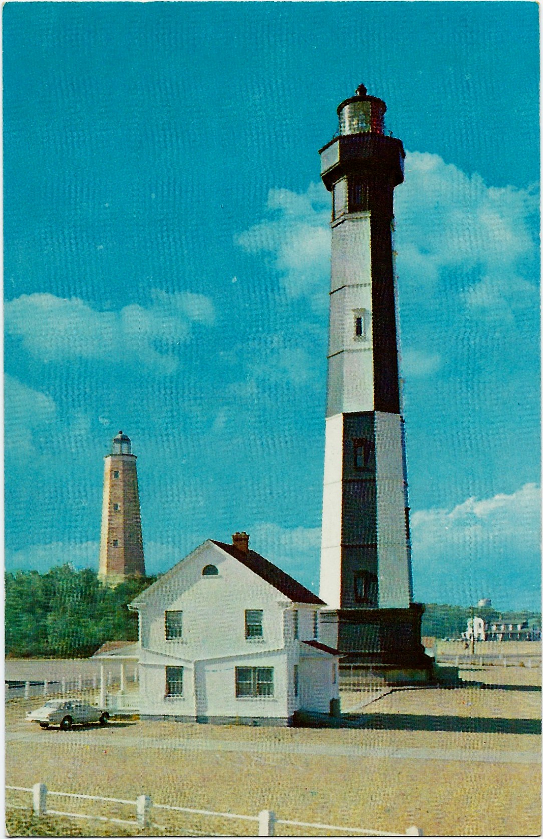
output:
[[[437,154],[408,152],[395,190],[401,283],[427,292],[447,272],[449,292],[462,291],[470,310],[503,316],[529,305],[537,293],[523,268],[535,254],[529,219],[538,206],[529,190],[487,186]]]

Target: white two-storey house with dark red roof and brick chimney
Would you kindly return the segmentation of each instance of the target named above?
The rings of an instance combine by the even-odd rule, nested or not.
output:
[[[208,539],[142,591],[140,719],[287,726],[330,711],[337,651],[318,640],[325,604],[254,550]]]

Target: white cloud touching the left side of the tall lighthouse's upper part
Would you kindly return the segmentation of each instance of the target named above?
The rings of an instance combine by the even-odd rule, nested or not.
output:
[[[287,297],[308,297],[322,305],[330,266],[330,198],[323,185],[307,192],[270,190],[271,218],[240,233],[236,242],[248,253],[270,253]]]

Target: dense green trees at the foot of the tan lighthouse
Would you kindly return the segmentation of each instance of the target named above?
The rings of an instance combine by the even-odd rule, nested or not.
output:
[[[137,641],[137,613],[127,604],[156,579],[132,577],[113,588],[71,565],[6,573],[6,655],[87,658],[105,641]]]

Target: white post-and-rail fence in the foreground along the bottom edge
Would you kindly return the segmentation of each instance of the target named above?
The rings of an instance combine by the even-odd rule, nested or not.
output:
[[[104,798],[101,795],[82,795],[71,792],[52,792],[47,789],[45,784],[34,784],[33,787],[16,787],[6,786],[17,792],[32,793],[32,809],[36,816],[68,816],[71,819],[87,819],[89,821],[111,821],[117,825],[130,825],[138,830],[148,827],[158,827],[162,830],[168,830],[163,825],[158,825],[153,821],[156,810],[169,810],[173,813],[188,813],[194,816],[210,816],[223,819],[234,819],[238,821],[252,821],[258,825],[258,836],[274,836],[276,825],[288,825],[294,827],[308,827],[317,831],[343,831],[344,833],[351,833],[354,836],[423,836],[422,831],[418,827],[409,827],[405,833],[387,833],[385,831],[370,831],[363,827],[342,827],[338,825],[321,825],[314,824],[309,821],[287,821],[285,819],[277,819],[271,810],[261,810],[258,816],[241,816],[239,813],[218,813],[214,810],[194,810],[190,807],[174,807],[167,804],[153,804],[150,795],[139,795],[135,801],[122,798]],[[65,812],[65,810],[49,810],[48,796],[58,795],[65,798],[81,799],[87,801],[106,801],[107,803],[115,803],[122,805],[131,805],[136,808],[135,820],[115,819],[109,816],[89,816],[84,813]],[[6,808],[9,808],[6,802]],[[16,807],[17,805],[13,805]],[[20,805],[19,805],[19,809]],[[26,809],[26,808],[25,808]],[[153,816],[153,817],[152,817]],[[209,836],[208,833],[199,834],[199,831],[185,831],[201,836]],[[230,834],[211,834],[212,836],[230,836]],[[332,832],[332,836],[338,836],[337,832]]]

